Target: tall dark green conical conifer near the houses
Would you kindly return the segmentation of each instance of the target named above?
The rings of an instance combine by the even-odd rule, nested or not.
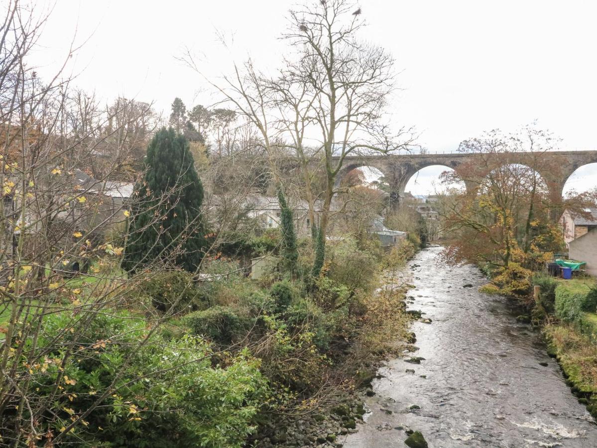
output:
[[[122,267],[130,272],[156,260],[193,272],[204,255],[203,186],[189,143],[160,129],[147,147],[145,174],[135,187]]]

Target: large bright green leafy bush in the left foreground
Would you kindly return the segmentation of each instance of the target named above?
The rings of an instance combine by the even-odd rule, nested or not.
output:
[[[89,316],[48,316],[38,340],[44,362],[26,366],[23,359],[23,375],[32,380],[23,382],[30,388],[24,418],[47,409],[32,419],[39,446],[54,446],[60,437],[76,446],[241,447],[254,431],[267,385],[247,351],[213,366],[204,339],[167,341],[124,312],[75,323]],[[53,348],[57,340],[73,342],[70,356]],[[5,428],[15,411],[4,413]],[[2,436],[14,437],[10,429]]]

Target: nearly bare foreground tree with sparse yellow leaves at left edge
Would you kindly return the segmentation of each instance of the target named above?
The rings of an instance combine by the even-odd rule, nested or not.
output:
[[[155,116],[150,104],[119,98],[104,108],[93,94],[70,87],[63,72],[74,45],[56,75],[42,82],[27,61],[47,15],[33,6],[3,5],[0,24],[0,432],[11,446],[39,440],[53,446],[85,425],[163,320],[148,320],[115,381],[82,394],[84,409],[64,413],[76,397],[66,392],[72,380],[62,369],[91,347],[81,335],[99,316],[124,308],[127,288],[144,278],[119,269],[118,242],[131,212],[114,196],[119,180],[136,179],[123,172],[143,149]],[[102,157],[109,163],[96,163]],[[85,267],[87,276],[73,282]],[[57,314],[64,327],[50,335],[47,322]],[[115,334],[113,343],[123,337]]]

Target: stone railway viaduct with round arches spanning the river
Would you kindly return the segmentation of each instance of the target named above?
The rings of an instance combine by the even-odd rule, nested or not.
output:
[[[528,164],[528,157],[533,153],[518,152],[499,154],[499,164],[507,165],[510,163]],[[347,156],[344,158],[343,169],[338,173],[337,183],[348,172],[361,166],[371,166],[377,168],[383,174],[387,183],[390,184],[392,193],[402,197],[408,181],[413,175],[422,168],[431,165],[447,166],[458,171],[459,166],[469,163],[479,163],[483,161],[482,157],[476,153],[430,153],[430,154],[397,154],[397,155],[369,155],[369,156]],[[552,151],[546,152],[541,157],[545,165],[556,167],[555,169],[537,169],[546,182],[550,196],[553,199],[562,199],[562,190],[564,184],[571,174],[580,166],[588,163],[597,162],[597,150],[591,151]],[[334,157],[334,162],[338,162],[338,157]]]

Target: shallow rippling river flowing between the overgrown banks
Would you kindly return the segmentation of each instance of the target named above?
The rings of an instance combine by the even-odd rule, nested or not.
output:
[[[365,397],[365,424],[338,441],[345,448],[405,447],[410,428],[431,448],[596,448],[597,425],[540,335],[516,323],[505,299],[478,292],[485,283],[478,268],[436,265],[441,250],[418,252],[409,266],[416,286],[409,309],[432,319],[413,324],[419,350],[380,367],[376,395]],[[405,362],[410,356],[424,360]]]

